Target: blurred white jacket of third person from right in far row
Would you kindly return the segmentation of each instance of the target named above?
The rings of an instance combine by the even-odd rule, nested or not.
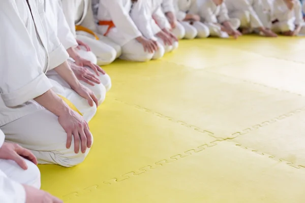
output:
[[[230,20],[223,3],[217,6],[212,0],[197,0],[199,15],[204,23],[223,23]]]

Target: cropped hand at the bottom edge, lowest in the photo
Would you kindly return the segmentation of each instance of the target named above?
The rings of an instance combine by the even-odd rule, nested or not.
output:
[[[35,187],[23,185],[25,190],[25,203],[63,203],[64,201],[52,196],[48,192]]]

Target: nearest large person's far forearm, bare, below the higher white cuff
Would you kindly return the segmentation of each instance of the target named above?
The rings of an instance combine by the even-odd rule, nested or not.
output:
[[[68,61],[65,61],[64,63],[55,67],[54,71],[56,71],[57,74],[62,77],[72,89],[75,90],[80,85],[79,81],[71,70]]]

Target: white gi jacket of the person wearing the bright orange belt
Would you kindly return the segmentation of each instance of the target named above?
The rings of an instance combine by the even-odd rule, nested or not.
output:
[[[69,0],[68,0],[69,1]],[[131,40],[142,36],[138,27],[130,17],[131,0],[102,0],[98,11],[98,19],[102,21],[112,21],[120,33],[120,37],[110,36],[115,43],[120,46],[125,45]],[[104,33],[107,31],[107,25],[100,25],[99,30]]]

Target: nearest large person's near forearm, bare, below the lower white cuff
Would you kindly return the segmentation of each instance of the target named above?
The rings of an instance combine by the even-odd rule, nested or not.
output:
[[[34,98],[34,100],[56,116],[60,116],[70,110],[65,101],[60,98],[52,89]]]

